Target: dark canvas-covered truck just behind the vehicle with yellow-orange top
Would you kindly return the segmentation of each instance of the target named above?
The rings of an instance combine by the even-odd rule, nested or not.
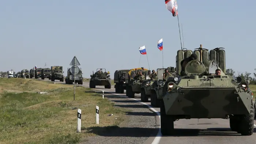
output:
[[[115,71],[114,88],[116,93],[123,94],[124,90],[126,90],[125,75],[128,75],[129,71],[131,71],[131,69],[120,69]]]

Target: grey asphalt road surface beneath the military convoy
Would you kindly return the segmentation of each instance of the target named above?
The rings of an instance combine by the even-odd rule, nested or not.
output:
[[[57,82],[64,83],[64,82]],[[89,82],[83,83],[84,87],[89,87]],[[111,89],[105,89],[103,86],[97,86],[97,90],[113,92],[114,85]],[[125,94],[115,94],[125,96]],[[160,109],[151,107],[150,102],[141,102],[140,94],[135,94],[137,102],[148,105],[149,109],[159,114]],[[149,98],[150,100],[150,98]],[[160,115],[160,114],[159,114]],[[157,125],[160,124],[160,117],[157,118]],[[255,125],[256,127],[256,121]],[[237,132],[232,132],[229,127],[229,120],[224,119],[191,119],[178,120],[174,122],[174,128],[177,131],[176,136],[163,136],[159,132],[156,137],[149,137],[143,144],[255,144],[256,143],[256,128],[251,136],[241,136]]]

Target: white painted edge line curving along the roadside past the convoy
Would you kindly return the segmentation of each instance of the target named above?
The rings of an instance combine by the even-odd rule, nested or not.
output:
[[[83,84],[83,85],[89,86],[89,85],[87,85],[87,84]],[[98,87],[98,86],[96,86],[96,87]],[[104,87],[99,87],[99,88],[104,88]],[[92,89],[94,89],[94,88],[92,88]],[[113,89],[114,89],[114,88],[113,88]],[[99,90],[99,89],[94,89],[94,90]],[[100,90],[100,91],[103,91],[103,90]],[[105,91],[105,90],[104,90],[104,91]],[[118,95],[118,94],[113,93],[113,92],[110,92],[110,91],[106,91],[106,92],[109,92],[109,93],[114,94],[114,95]],[[129,98],[128,96],[124,96],[124,95],[118,95],[118,96],[123,96],[123,97],[125,97],[125,98]],[[130,99],[133,99],[133,98],[130,98]],[[135,101],[137,101],[137,102],[139,102],[139,103],[142,103],[143,105],[148,106],[150,110],[152,110],[152,111],[154,111],[155,113],[157,113],[157,115],[158,115],[158,117],[159,117],[159,120],[160,120],[160,126],[159,126],[159,130],[158,130],[157,136],[155,136],[155,139],[153,140],[153,142],[152,142],[151,144],[158,144],[159,141],[160,141],[160,139],[161,139],[161,137],[162,137],[162,133],[161,133],[161,129],[160,129],[160,128],[161,128],[161,116],[160,116],[160,113],[159,113],[157,110],[155,110],[152,106],[150,106],[150,105],[148,105],[148,104],[146,104],[146,103],[144,103],[144,102],[140,102],[140,101],[137,100],[137,99],[133,99],[133,100],[135,100]]]

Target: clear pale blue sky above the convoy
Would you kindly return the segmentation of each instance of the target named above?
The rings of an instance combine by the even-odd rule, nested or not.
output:
[[[106,68],[175,67],[181,49],[177,16],[164,0],[0,0],[0,71],[60,65],[76,56],[84,77]],[[226,51],[226,67],[254,72],[256,1],[177,0],[184,47]],[[146,46],[147,56],[139,47]],[[253,74],[251,75],[253,76]]]

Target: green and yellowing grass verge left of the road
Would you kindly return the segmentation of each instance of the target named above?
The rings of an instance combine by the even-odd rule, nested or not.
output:
[[[74,87],[41,80],[0,79],[0,90],[0,144],[75,144],[95,135],[87,129],[109,130],[125,118],[125,109],[113,107],[114,103],[90,88],[76,87],[75,101]],[[96,105],[99,125],[95,124]],[[81,133],[76,133],[78,108],[82,110]]]

